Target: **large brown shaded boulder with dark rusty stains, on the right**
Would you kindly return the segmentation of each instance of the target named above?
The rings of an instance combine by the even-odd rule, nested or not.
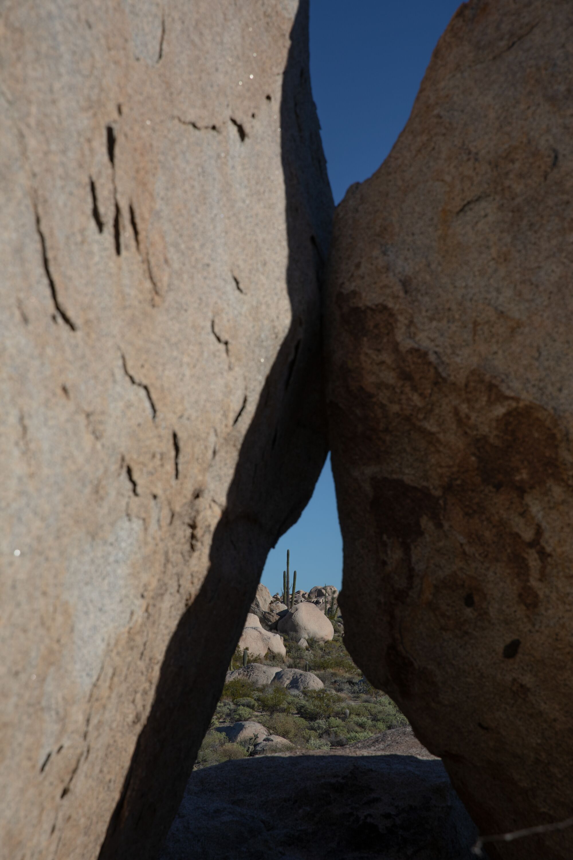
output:
[[[485,832],[573,807],[572,34],[570,3],[463,4],[332,243],[345,642]]]

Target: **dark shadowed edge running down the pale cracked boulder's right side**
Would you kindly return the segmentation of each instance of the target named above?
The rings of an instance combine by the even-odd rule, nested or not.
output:
[[[210,567],[180,618],[99,860],[155,860],[180,806],[271,547],[308,503],[326,459],[321,284],[332,194],[308,77],[308,0],[283,73],[281,157],[289,332],[241,445]],[[210,856],[215,857],[215,854]]]

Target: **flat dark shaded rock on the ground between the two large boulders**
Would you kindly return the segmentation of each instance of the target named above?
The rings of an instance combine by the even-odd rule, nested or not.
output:
[[[260,756],[192,774],[161,860],[471,860],[442,762]]]

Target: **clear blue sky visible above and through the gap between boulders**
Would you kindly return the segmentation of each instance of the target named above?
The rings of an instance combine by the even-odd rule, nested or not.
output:
[[[410,115],[452,0],[311,0],[310,75],[334,202],[378,169]],[[342,538],[330,457],[296,525],[271,550],[261,582],[283,587],[286,550],[297,587],[340,587]]]

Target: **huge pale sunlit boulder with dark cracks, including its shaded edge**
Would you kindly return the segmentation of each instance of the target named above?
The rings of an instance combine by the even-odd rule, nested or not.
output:
[[[0,24],[0,854],[155,860],[324,462],[332,201],[308,3],[72,6]]]

